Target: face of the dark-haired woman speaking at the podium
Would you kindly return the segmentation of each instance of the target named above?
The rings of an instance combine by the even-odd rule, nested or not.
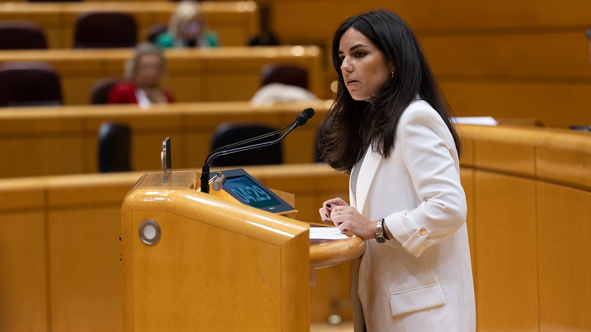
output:
[[[370,100],[391,79],[394,64],[364,34],[349,28],[340,37],[340,70],[355,100]]]

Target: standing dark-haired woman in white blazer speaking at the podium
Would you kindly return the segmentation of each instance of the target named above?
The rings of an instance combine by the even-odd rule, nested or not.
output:
[[[388,11],[349,18],[332,60],[320,149],[350,173],[350,205],[327,200],[320,216],[366,240],[350,276],[355,330],[475,331],[460,142],[413,31]]]

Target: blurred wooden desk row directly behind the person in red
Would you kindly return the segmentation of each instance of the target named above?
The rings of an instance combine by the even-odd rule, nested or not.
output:
[[[90,103],[93,84],[101,77],[122,77],[131,49],[1,51],[6,61],[46,61],[61,77],[66,105]],[[167,50],[163,85],[178,102],[249,100],[261,87],[261,68],[268,63],[297,64],[308,71],[309,89],[322,86],[322,52],[315,46],[219,47]]]

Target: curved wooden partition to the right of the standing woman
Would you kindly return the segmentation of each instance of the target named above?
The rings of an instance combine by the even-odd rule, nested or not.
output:
[[[465,135],[478,330],[591,330],[591,134],[465,126]]]

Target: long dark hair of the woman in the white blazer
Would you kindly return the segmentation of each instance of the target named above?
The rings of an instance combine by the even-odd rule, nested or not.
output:
[[[349,28],[362,32],[394,64],[394,77],[372,98],[372,103],[354,100],[343,82],[339,43]],[[450,120],[452,109],[437,86],[417,38],[402,18],[390,11],[371,11],[349,18],[335,32],[331,53],[338,90],[319,147],[331,167],[349,172],[370,144],[375,152],[388,158],[400,117],[417,96],[439,113],[461,153]]]

